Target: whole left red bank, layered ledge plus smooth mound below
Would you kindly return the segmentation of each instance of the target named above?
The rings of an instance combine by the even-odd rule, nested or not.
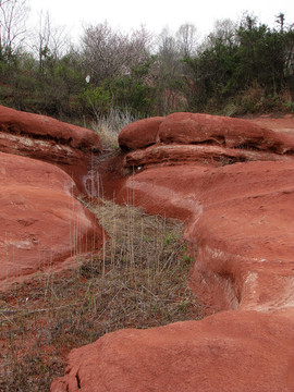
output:
[[[0,290],[101,247],[101,229],[75,198],[99,149],[89,130],[0,107]]]

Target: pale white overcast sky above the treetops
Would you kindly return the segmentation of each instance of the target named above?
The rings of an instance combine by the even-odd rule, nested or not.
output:
[[[293,0],[27,0],[29,23],[37,24],[39,13],[49,12],[54,26],[66,26],[74,41],[83,34],[83,26],[107,21],[123,32],[144,25],[159,34],[169,27],[176,32],[184,23],[193,24],[204,37],[213,29],[217,20],[242,17],[244,11],[258,16],[261,23],[274,25],[275,15],[283,12],[286,23],[294,23]]]

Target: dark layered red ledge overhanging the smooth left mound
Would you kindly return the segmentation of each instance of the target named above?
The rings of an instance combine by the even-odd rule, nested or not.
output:
[[[99,137],[81,126],[0,106],[0,151],[54,163],[66,171],[81,191]]]

